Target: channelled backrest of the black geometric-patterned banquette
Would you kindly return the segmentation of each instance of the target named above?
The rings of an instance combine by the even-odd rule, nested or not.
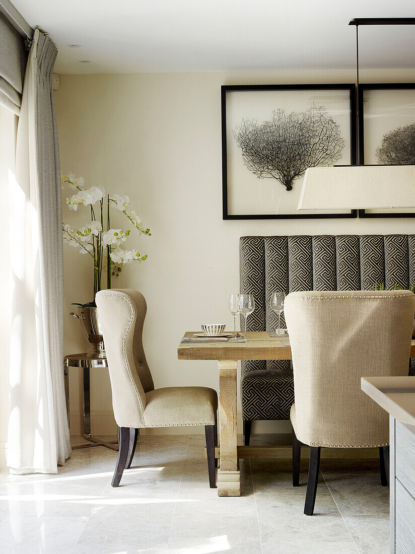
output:
[[[275,329],[271,291],[367,290],[371,283],[415,283],[415,235],[241,237],[240,292],[252,293],[248,331]],[[285,322],[284,322],[285,325]],[[243,372],[287,367],[287,361],[243,361]]]

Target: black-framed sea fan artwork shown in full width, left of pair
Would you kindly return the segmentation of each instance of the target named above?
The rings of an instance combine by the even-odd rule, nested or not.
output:
[[[223,219],[357,217],[297,212],[306,168],[356,163],[355,89],[222,86]]]

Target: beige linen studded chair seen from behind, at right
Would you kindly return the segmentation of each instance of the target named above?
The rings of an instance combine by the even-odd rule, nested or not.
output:
[[[388,414],[361,391],[364,376],[408,375],[415,296],[399,291],[306,291],[285,299],[294,366],[293,485],[310,445],[304,513],[312,515],[320,448],[379,448],[388,484]]]

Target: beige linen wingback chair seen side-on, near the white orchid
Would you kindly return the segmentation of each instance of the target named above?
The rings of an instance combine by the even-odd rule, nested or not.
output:
[[[120,448],[111,485],[118,486],[124,468],[130,467],[140,428],[204,425],[209,485],[214,488],[216,391],[205,387],[155,389],[142,345],[147,311],[144,296],[129,289],[101,290],[95,301],[108,360],[112,407],[119,426]]]

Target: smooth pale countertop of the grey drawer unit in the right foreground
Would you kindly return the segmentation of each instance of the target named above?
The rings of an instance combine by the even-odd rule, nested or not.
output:
[[[362,377],[361,388],[398,421],[415,425],[415,377]]]

